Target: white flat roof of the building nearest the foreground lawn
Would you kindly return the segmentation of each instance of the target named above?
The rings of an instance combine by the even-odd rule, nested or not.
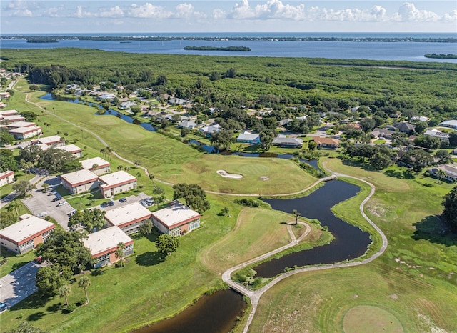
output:
[[[90,249],[91,254],[94,257],[97,256],[97,254],[115,250],[119,243],[127,244],[133,241],[119,227],[114,226],[89,234],[87,238],[83,239],[83,242],[84,247]]]

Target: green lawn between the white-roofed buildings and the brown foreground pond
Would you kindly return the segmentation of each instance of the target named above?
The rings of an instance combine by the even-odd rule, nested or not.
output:
[[[125,267],[108,267],[89,275],[89,304],[63,314],[63,298],[47,298],[37,292],[1,314],[1,331],[16,327],[16,318],[21,316],[45,332],[127,332],[181,312],[211,287],[221,284],[220,277],[196,258],[233,229],[240,209],[231,201],[209,199],[211,209],[202,218],[203,227],[181,237],[179,249],[165,262],[158,261],[155,235],[134,237],[136,255],[128,258]],[[223,207],[229,207],[234,217],[218,216]],[[77,283],[70,287],[69,302],[84,299],[84,290]]]

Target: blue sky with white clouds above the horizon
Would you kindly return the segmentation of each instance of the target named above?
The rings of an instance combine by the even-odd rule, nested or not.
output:
[[[1,34],[453,32],[457,1],[0,0]]]

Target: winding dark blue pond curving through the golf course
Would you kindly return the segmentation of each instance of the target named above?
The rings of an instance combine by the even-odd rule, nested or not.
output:
[[[344,222],[331,212],[331,207],[354,197],[360,187],[333,180],[316,189],[307,197],[296,199],[264,199],[271,208],[292,213],[296,209],[302,217],[318,219],[333,234],[333,242],[306,251],[286,254],[279,259],[263,262],[253,269],[259,277],[274,277],[284,272],[286,267],[333,264],[346,259],[355,259],[366,252],[371,243],[368,232]]]

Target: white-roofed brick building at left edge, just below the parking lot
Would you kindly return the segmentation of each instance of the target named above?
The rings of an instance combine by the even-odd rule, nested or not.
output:
[[[0,243],[12,252],[24,254],[45,242],[55,227],[54,223],[29,216],[1,229]]]

